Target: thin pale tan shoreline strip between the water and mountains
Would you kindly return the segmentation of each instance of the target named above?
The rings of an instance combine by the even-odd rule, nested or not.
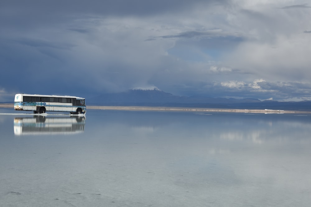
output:
[[[14,105],[11,103],[0,103],[0,108],[14,109]],[[128,110],[128,111],[231,112],[231,113],[261,113],[261,114],[311,114],[311,111],[298,111],[298,110],[215,109],[215,108],[162,107],[162,106],[86,106],[86,110],[88,109]]]

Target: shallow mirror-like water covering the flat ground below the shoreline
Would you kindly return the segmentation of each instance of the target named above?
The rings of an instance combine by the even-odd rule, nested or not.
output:
[[[311,116],[4,115],[0,206],[310,206]]]

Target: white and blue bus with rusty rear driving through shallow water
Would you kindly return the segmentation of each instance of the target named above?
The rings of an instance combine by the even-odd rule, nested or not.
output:
[[[43,114],[46,111],[70,112],[70,114],[85,114],[85,98],[75,96],[16,94],[14,109],[33,111]]]

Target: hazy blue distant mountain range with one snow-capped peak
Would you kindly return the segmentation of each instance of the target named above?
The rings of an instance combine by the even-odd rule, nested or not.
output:
[[[132,88],[126,92],[106,93],[88,98],[87,104],[99,106],[176,106],[196,108],[310,110],[311,101],[260,101],[246,98],[211,98],[204,96],[175,96],[157,87]]]

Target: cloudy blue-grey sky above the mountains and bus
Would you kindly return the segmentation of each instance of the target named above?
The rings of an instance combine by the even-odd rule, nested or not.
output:
[[[311,100],[308,0],[2,0],[0,102],[16,93]]]

